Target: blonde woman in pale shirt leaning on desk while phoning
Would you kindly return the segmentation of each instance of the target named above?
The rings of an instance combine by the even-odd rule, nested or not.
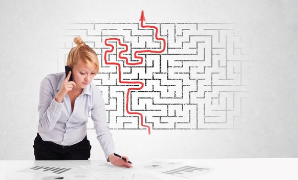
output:
[[[73,72],[67,77],[65,72],[49,74],[41,81],[38,133],[33,145],[35,160],[88,160],[91,145],[86,120],[91,112],[107,162],[131,168],[128,157],[122,156],[125,161],[114,155],[105,103],[100,89],[91,82],[99,71],[97,55],[80,37],[75,37],[74,43],[77,46],[67,59]],[[74,81],[69,81],[71,75]]]

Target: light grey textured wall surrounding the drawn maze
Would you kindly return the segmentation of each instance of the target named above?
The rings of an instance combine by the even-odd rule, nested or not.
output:
[[[237,23],[249,60],[248,99],[237,129],[111,130],[116,151],[148,158],[297,157],[297,2],[1,1],[0,160],[33,160],[41,79],[57,72],[65,23]],[[83,39],[84,40],[84,39]],[[88,130],[91,159],[104,159]]]

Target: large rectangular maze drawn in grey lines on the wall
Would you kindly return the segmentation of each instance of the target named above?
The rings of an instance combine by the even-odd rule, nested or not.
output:
[[[98,55],[92,82],[103,93],[110,129],[236,128],[248,60],[235,25],[144,22],[149,25],[156,29],[141,23],[68,24],[59,37],[57,72],[64,71],[80,36]],[[93,129],[90,116],[87,126]]]

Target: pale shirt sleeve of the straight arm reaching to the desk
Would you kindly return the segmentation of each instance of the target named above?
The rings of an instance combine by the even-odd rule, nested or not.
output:
[[[105,154],[107,162],[110,162],[108,157],[109,155],[115,153],[115,144],[110,132],[109,124],[106,120],[106,108],[105,102],[103,100],[101,91],[96,96],[99,96],[99,99],[91,109],[91,119],[94,121],[94,128],[97,134],[97,139],[102,147],[102,150]]]

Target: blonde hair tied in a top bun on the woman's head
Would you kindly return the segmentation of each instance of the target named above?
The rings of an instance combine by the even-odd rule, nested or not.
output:
[[[74,38],[74,43],[77,46],[71,49],[66,65],[73,67],[77,60],[82,60],[87,66],[94,69],[95,74],[97,74],[99,71],[99,61],[95,51],[86,45],[78,36]]]

